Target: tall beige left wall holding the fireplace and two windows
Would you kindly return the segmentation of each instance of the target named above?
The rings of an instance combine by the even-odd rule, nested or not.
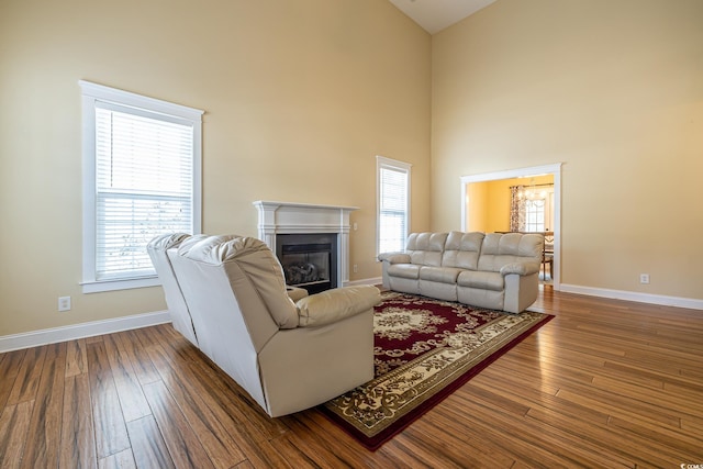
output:
[[[78,286],[79,79],[205,110],[204,232],[255,236],[259,199],[356,205],[352,280],[378,277],[376,155],[413,165],[429,227],[431,37],[386,0],[3,0],[0,44],[0,336],[165,309]]]

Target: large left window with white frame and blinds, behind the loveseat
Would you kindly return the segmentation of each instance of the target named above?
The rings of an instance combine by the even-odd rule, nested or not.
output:
[[[158,284],[146,244],[200,232],[203,111],[79,83],[83,292]]]

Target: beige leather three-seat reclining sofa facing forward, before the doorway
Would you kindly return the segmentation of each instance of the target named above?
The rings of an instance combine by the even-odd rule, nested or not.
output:
[[[521,233],[413,233],[404,253],[379,255],[383,287],[520,313],[537,299],[544,237]]]

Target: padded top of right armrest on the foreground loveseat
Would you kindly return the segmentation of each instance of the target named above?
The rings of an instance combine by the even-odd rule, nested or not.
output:
[[[298,300],[298,325],[315,327],[368,311],[381,302],[378,288],[367,284],[344,287]]]

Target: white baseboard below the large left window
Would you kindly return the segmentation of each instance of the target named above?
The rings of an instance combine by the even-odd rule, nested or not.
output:
[[[113,320],[93,321],[64,327],[32,331],[23,334],[5,335],[0,337],[0,353],[170,322],[171,319],[168,311],[158,311],[155,313],[115,317]]]

